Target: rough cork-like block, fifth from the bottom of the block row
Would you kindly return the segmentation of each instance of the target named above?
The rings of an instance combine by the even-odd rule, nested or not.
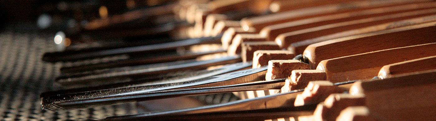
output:
[[[266,71],[266,80],[288,78],[296,69],[308,69],[309,65],[298,60],[270,60]]]

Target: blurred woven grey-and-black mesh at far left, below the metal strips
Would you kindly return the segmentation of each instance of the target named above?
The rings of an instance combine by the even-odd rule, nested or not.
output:
[[[29,29],[23,24],[8,28]],[[147,111],[142,106],[138,106],[140,109],[137,108],[134,103],[72,111],[42,110],[39,95],[59,89],[54,84],[54,79],[59,75],[63,63],[41,61],[44,52],[54,50],[53,35],[37,33],[34,30],[4,30],[0,33],[0,121],[98,120]],[[238,99],[232,93],[193,98],[203,101],[204,104],[225,103]]]

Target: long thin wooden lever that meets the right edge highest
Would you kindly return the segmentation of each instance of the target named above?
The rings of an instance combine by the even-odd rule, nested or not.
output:
[[[268,41],[274,41],[281,33],[288,33],[300,29],[307,29],[316,26],[322,26],[332,23],[340,23],[375,16],[383,16],[405,11],[421,10],[425,8],[436,7],[435,2],[429,3],[412,3],[393,7],[380,7],[368,10],[359,10],[347,13],[338,13],[327,16],[313,17],[303,20],[296,20],[287,23],[280,23],[264,27],[259,34],[266,36]]]

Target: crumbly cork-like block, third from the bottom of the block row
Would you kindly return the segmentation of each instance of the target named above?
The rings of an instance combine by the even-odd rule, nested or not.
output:
[[[342,93],[344,90],[335,86],[329,81],[310,81],[302,94],[298,94],[294,101],[294,106],[304,104],[319,103],[324,101],[328,95]]]

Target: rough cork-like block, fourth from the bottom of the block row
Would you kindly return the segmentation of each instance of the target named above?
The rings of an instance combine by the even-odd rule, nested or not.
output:
[[[310,81],[326,79],[326,73],[320,70],[293,70],[291,76],[286,79],[282,92],[303,89]]]

